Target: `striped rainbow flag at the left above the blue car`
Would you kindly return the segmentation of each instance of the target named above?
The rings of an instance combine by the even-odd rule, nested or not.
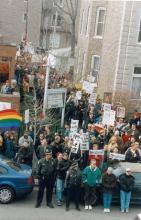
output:
[[[0,130],[11,130],[20,127],[22,117],[14,109],[0,111]]]

